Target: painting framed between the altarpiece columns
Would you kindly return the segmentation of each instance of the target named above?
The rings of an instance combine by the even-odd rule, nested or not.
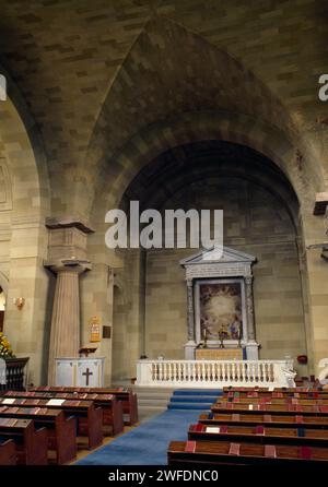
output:
[[[235,343],[247,336],[243,278],[197,280],[195,283],[197,343],[207,337],[213,345]]]

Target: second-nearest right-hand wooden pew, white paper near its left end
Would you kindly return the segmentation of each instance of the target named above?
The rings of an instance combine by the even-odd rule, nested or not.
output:
[[[196,441],[242,441],[263,444],[307,444],[328,448],[328,430],[303,428],[279,428],[241,425],[190,425],[188,439]]]

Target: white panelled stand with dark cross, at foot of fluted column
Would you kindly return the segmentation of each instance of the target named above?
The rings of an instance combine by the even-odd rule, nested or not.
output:
[[[103,388],[105,357],[55,359],[55,385]]]

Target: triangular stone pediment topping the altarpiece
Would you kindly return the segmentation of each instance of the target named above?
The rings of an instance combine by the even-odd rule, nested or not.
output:
[[[211,262],[220,263],[244,263],[251,265],[256,261],[256,257],[242,252],[241,250],[231,249],[229,247],[221,248],[212,247],[204,249],[187,259],[180,261],[183,266],[194,264],[209,264]]]

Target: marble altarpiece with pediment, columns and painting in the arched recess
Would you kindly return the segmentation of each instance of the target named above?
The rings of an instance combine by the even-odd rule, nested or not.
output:
[[[258,360],[251,272],[256,261],[229,247],[180,261],[187,284],[187,360]]]

